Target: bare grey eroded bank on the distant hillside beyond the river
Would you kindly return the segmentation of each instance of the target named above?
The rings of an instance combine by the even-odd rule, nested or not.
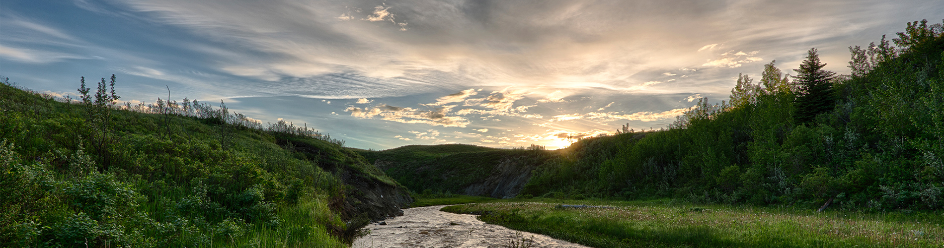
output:
[[[520,161],[520,159],[506,158],[501,160],[492,174],[484,180],[465,187],[464,194],[480,195],[494,198],[512,198],[518,194],[531,179],[531,170],[534,166]]]

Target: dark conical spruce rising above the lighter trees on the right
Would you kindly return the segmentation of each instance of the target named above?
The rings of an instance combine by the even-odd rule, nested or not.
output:
[[[797,112],[795,119],[798,123],[807,123],[817,117],[819,113],[833,108],[833,83],[830,82],[834,72],[822,70],[826,63],[819,61],[816,48],[810,48],[806,59],[800,64],[800,69],[794,69],[794,76],[799,92],[795,100]]]

